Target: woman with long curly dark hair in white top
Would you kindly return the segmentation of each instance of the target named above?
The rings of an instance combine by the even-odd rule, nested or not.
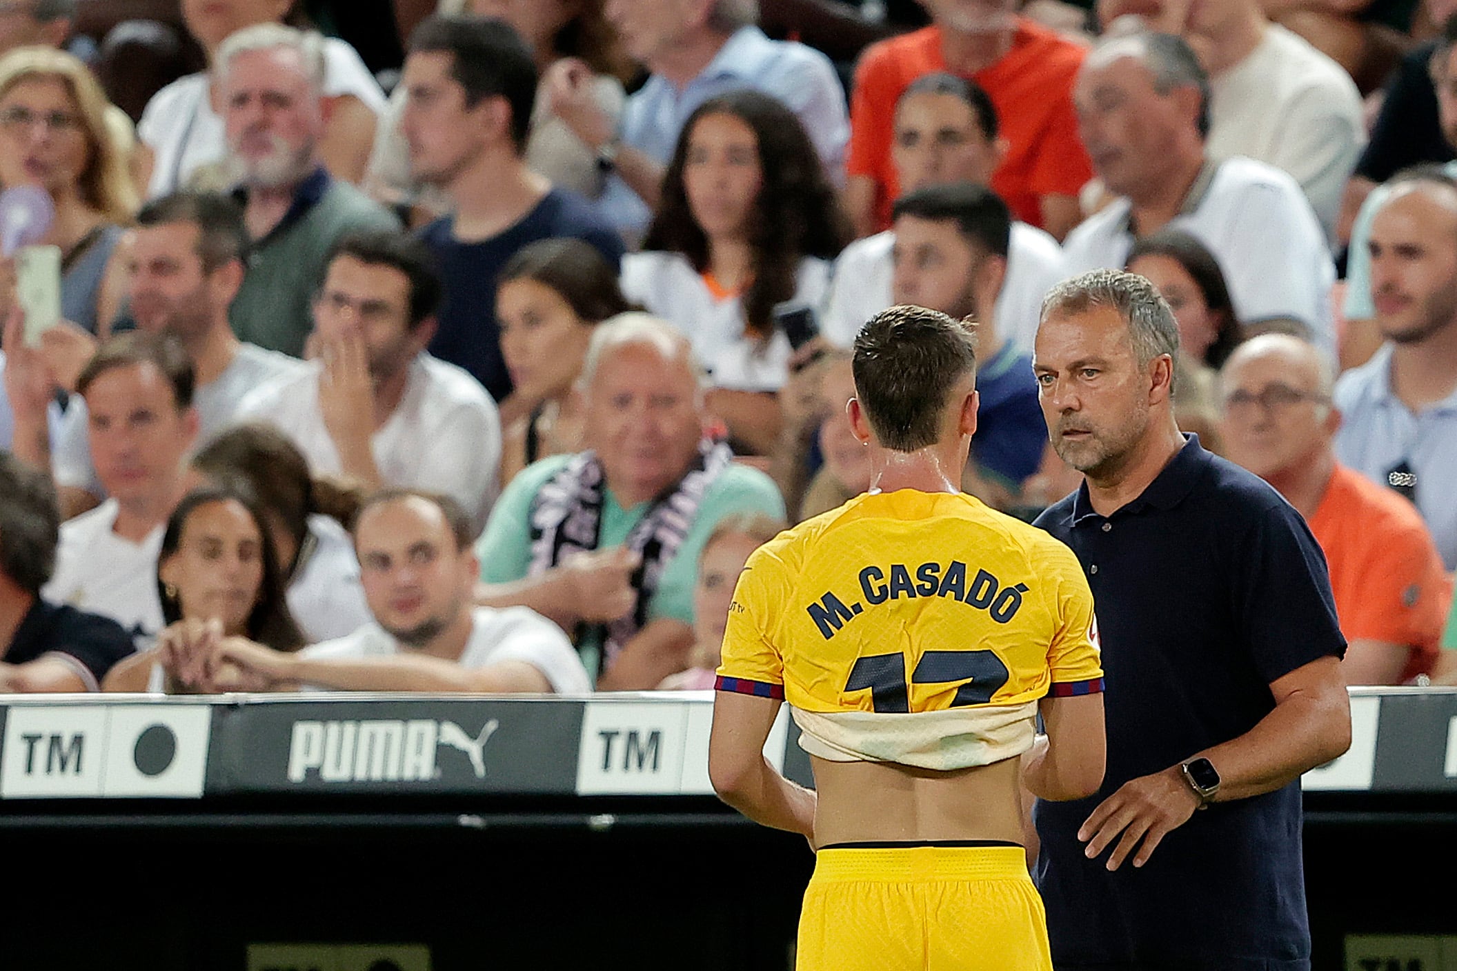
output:
[[[622,293],[678,326],[711,371],[708,408],[746,451],[778,435],[777,392],[793,355],[781,314],[817,312],[849,223],[794,112],[737,90],[683,125],[641,253]]]

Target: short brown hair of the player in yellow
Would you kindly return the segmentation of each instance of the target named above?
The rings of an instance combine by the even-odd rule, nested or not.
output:
[[[855,338],[855,396],[886,448],[915,451],[940,438],[951,386],[976,371],[972,330],[940,310],[902,304]]]

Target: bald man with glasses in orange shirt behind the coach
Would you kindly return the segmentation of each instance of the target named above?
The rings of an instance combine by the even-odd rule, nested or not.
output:
[[[1224,365],[1228,457],[1275,486],[1330,565],[1348,684],[1402,684],[1437,659],[1451,584],[1406,498],[1336,463],[1340,412],[1313,345],[1266,333]]]

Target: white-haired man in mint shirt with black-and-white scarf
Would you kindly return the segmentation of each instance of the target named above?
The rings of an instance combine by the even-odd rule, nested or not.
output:
[[[672,325],[641,313],[599,325],[574,393],[587,450],[527,466],[501,494],[476,546],[479,600],[577,633],[599,690],[651,689],[686,664],[714,527],[782,517],[784,501],[704,432],[704,373]]]

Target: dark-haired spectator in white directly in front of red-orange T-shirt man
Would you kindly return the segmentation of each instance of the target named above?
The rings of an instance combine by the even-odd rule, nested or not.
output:
[[[916,79],[896,102],[890,162],[908,194],[930,185],[989,185],[1007,154],[997,109],[976,82],[937,73]],[[890,230],[860,239],[835,262],[835,285],[825,314],[825,335],[849,346],[874,313],[892,303]],[[1023,221],[1011,224],[1007,280],[997,297],[997,326],[1023,354],[1032,354],[1042,296],[1062,280],[1058,240]]]

